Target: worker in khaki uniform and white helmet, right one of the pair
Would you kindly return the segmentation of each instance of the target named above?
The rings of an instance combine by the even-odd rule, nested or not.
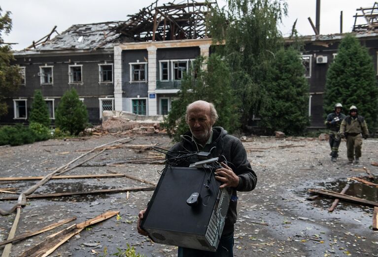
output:
[[[361,135],[362,134],[362,135]],[[359,162],[361,157],[362,138],[367,139],[368,126],[364,117],[358,115],[357,107],[349,108],[349,115],[345,117],[340,126],[340,136],[346,138],[346,152],[349,163]]]

